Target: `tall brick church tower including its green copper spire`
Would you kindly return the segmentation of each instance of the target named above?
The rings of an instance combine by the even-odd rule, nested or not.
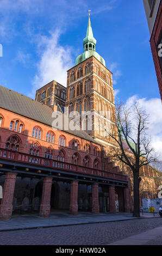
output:
[[[104,59],[96,52],[90,14],[83,46],[84,52],[67,71],[65,107],[80,129],[109,148],[114,145],[109,136],[115,118],[113,78]]]

